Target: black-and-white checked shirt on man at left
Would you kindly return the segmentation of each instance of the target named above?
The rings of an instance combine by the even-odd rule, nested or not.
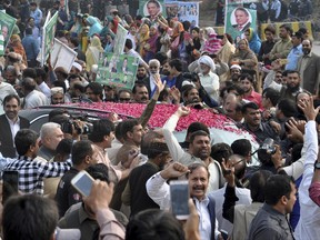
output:
[[[20,156],[6,166],[4,170],[19,172],[19,190],[23,193],[43,194],[43,178],[63,176],[71,167],[66,162],[43,162]]]

